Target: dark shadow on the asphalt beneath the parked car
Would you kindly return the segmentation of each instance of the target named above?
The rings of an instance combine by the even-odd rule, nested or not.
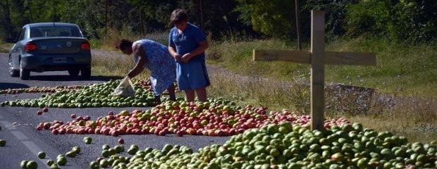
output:
[[[29,80],[40,81],[108,81],[123,79],[121,76],[91,76],[89,79],[84,79],[80,76],[71,77],[70,75],[32,75]]]

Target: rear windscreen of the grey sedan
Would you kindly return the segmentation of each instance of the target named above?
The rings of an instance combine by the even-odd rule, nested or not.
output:
[[[82,37],[75,26],[42,26],[31,27],[30,37]]]

